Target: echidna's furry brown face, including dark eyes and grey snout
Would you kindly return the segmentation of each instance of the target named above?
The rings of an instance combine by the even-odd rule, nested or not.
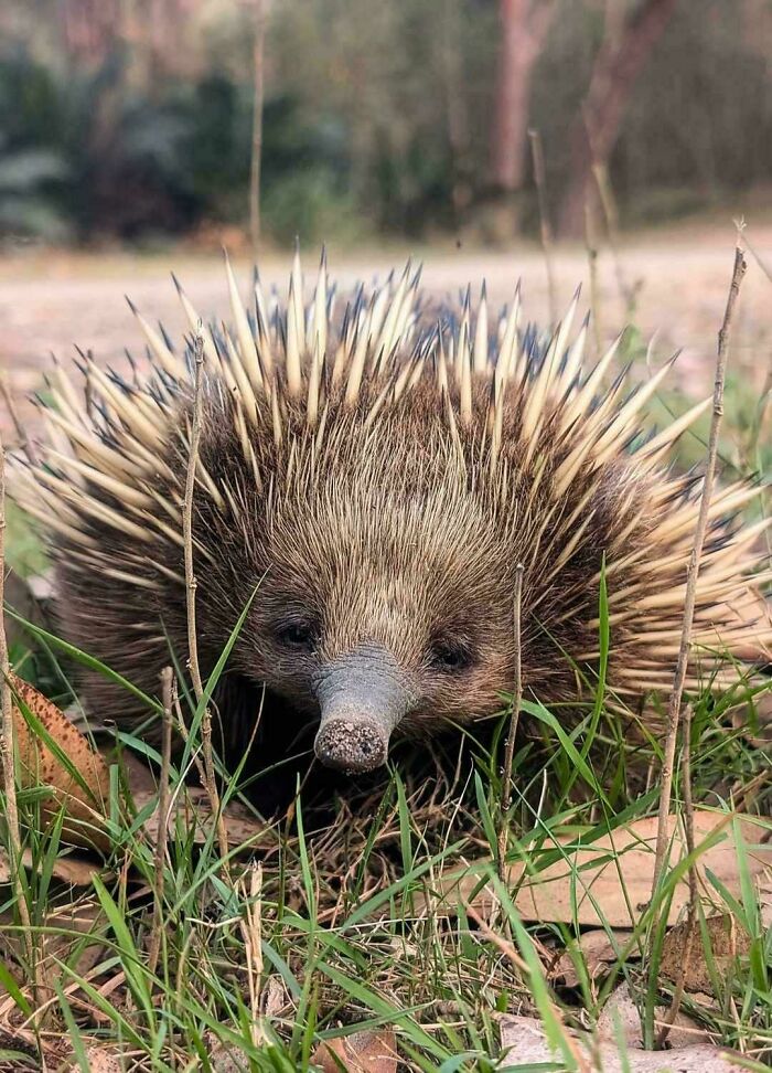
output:
[[[331,419],[340,436],[324,478],[304,481],[300,459],[254,557],[233,564],[230,586],[261,578],[234,656],[321,716],[322,763],[364,772],[386,761],[398,727],[431,734],[501,709],[512,577],[487,482],[460,471],[433,397],[416,392],[375,429],[344,411]]]

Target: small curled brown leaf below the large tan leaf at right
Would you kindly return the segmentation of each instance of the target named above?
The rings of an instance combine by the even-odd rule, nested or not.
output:
[[[709,916],[705,927],[710,938],[710,949],[718,976],[726,979],[738,957],[750,952],[751,941],[748,932],[738,924],[730,913]],[[684,922],[667,933],[662,947],[660,973],[667,980],[677,981],[684,973],[684,987],[687,991],[712,991],[710,973],[705,957],[699,925],[691,942],[689,963],[684,967],[688,924]]]

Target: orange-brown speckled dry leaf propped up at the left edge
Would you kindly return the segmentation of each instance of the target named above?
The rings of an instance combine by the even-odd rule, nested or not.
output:
[[[110,786],[107,764],[52,701],[18,674],[11,673],[10,681],[14,693],[13,727],[22,786],[52,787],[52,796],[41,803],[41,811],[53,819],[64,808],[67,818],[62,829],[63,841],[108,850],[110,842],[103,826]],[[34,713],[72,762],[84,785],[71,775],[52,750],[28,726],[15,703],[17,697]]]

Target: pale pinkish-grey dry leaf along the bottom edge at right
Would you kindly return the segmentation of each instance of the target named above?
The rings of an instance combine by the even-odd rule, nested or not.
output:
[[[554,1063],[551,1051],[539,1021],[530,1017],[506,1014],[501,1018],[501,1042],[510,1066]],[[587,1070],[602,1073],[743,1073],[740,1056],[710,1043],[690,1043],[668,1051],[642,1051],[629,1047],[621,1055],[616,1042],[590,1033],[565,1030],[583,1058]]]

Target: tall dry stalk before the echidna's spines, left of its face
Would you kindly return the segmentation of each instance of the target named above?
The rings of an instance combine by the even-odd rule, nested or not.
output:
[[[194,342],[194,396],[193,421],[191,425],[191,442],[187,456],[187,472],[185,476],[185,504],[182,514],[182,538],[185,557],[185,610],[187,615],[187,657],[191,669],[191,681],[196,703],[200,704],[204,695],[204,686],[199,666],[199,641],[195,623],[195,591],[196,577],[193,566],[193,493],[195,489],[195,470],[199,464],[199,445],[201,443],[202,411],[204,404],[204,328],[199,321]],[[217,824],[217,839],[223,858],[223,865],[227,868],[228,838],[223,821],[217,790],[217,777],[212,751],[212,709],[204,708],[201,720],[201,742],[203,753],[204,787],[210,798],[212,815]]]

